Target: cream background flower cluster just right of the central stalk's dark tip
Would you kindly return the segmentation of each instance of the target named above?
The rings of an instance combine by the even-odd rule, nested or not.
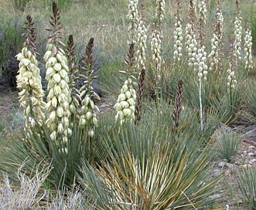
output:
[[[138,69],[145,69],[145,49],[147,49],[147,32],[148,29],[145,27],[144,21],[142,17],[139,19],[138,22],[138,51],[137,51],[137,63]]]

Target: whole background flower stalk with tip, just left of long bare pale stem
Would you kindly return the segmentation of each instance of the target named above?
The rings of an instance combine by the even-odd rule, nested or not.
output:
[[[189,56],[188,65],[196,70],[198,63],[197,63],[197,47],[198,42],[196,40],[196,15],[195,15],[195,5],[193,0],[189,1],[189,15],[186,22],[186,36],[185,36],[185,46],[186,52]]]

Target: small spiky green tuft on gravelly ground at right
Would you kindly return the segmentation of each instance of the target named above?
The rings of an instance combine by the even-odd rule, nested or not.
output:
[[[217,140],[218,155],[221,159],[232,161],[237,155],[237,150],[241,144],[241,139],[236,134],[222,131]]]

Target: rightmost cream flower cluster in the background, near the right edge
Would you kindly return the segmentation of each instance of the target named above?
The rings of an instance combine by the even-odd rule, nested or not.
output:
[[[252,55],[251,55],[251,47],[252,47],[252,36],[251,36],[251,30],[247,29],[244,36],[244,60],[245,60],[245,66],[244,69],[247,71],[250,71],[254,68],[254,63],[252,61]]]

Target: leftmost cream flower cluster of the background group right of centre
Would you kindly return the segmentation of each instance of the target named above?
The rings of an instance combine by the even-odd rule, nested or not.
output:
[[[174,24],[175,30],[173,32],[174,36],[174,52],[173,59],[175,62],[179,62],[183,56],[183,25],[182,19],[179,16],[176,16],[176,23]]]

